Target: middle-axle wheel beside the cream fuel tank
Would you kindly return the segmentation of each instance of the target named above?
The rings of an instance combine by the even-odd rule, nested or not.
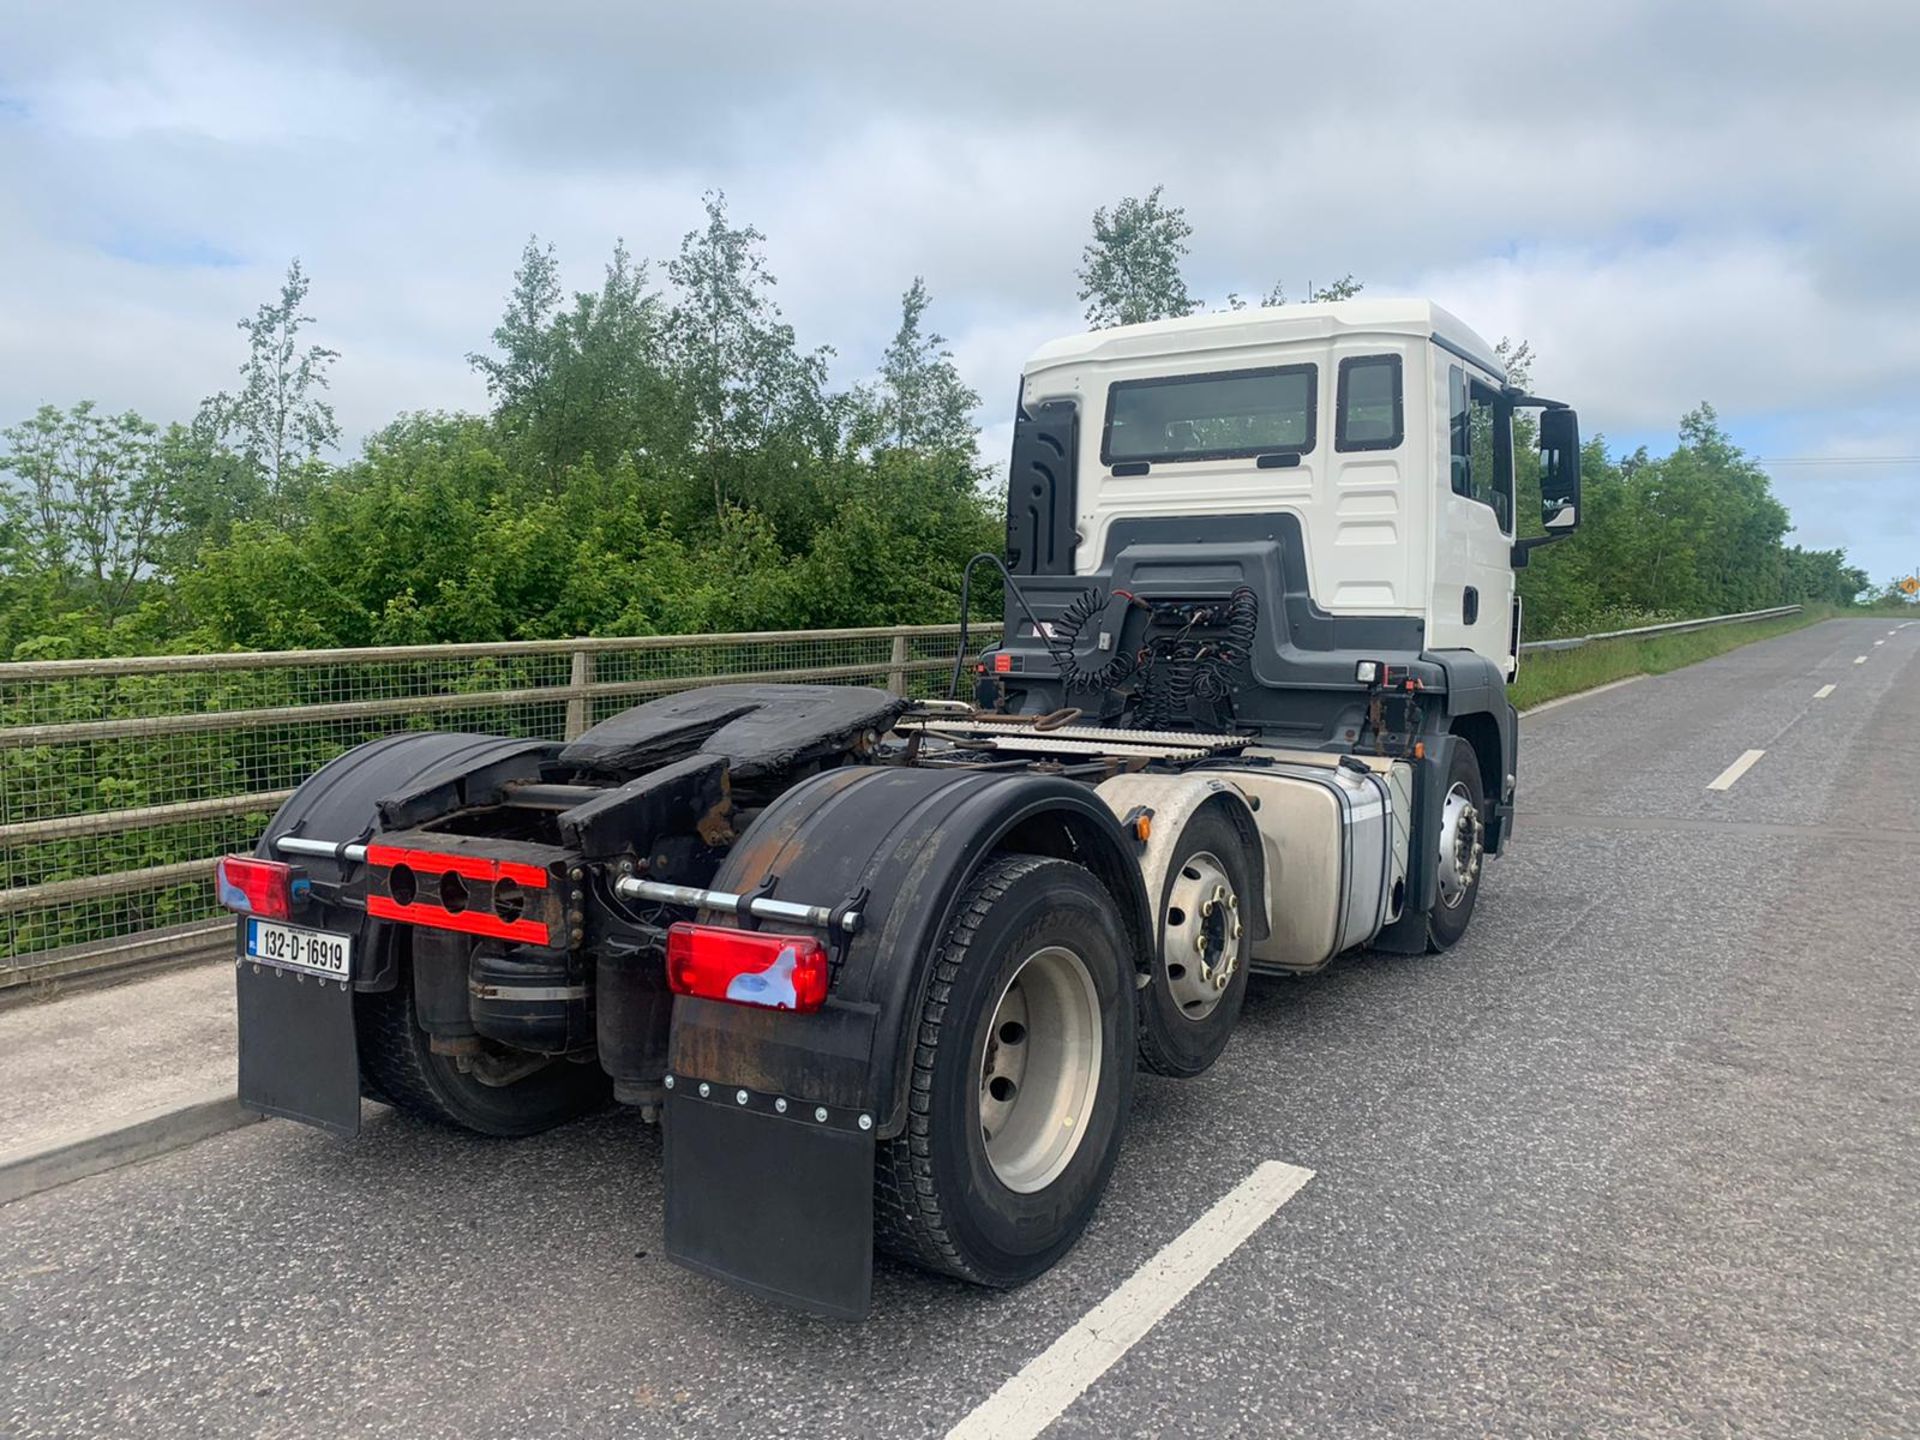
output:
[[[1160,952],[1140,991],[1140,1064],[1156,1075],[1198,1075],[1233,1037],[1246,1002],[1250,885],[1238,831],[1200,810],[1167,866]]]

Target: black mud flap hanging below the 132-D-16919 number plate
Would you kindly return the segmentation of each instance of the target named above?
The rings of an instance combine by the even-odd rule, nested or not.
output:
[[[240,1104],[342,1139],[359,1135],[353,991],[252,960],[238,972]]]

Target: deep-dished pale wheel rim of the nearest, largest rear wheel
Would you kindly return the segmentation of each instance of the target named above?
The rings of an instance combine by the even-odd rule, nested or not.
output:
[[[1100,993],[1087,962],[1048,945],[993,1008],[979,1066],[979,1131],[1008,1190],[1044,1190],[1073,1160],[1100,1087]]]

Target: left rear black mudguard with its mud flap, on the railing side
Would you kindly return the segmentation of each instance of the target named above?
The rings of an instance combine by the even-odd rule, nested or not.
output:
[[[380,826],[388,806],[407,816],[465,801],[480,783],[534,772],[559,749],[543,741],[413,732],[376,739],[326,762],[296,789],[261,835],[255,854],[278,858],[280,835],[351,841]],[[359,1133],[359,1043],[353,993],[392,989],[394,927],[367,920],[338,900],[357,879],[346,860],[301,858],[311,899],[292,922],[353,937],[353,985],[242,960],[238,972],[240,1104],[351,1137]],[[246,920],[234,927],[236,960],[244,954]]]

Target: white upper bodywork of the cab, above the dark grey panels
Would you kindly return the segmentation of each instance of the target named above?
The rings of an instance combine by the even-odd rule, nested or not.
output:
[[[1073,574],[1100,570],[1129,520],[1288,515],[1319,609],[1419,620],[1425,649],[1513,672],[1511,415],[1540,401],[1438,305],[1340,300],[1069,336],[1021,376],[1027,415],[1062,403],[1079,426]]]

